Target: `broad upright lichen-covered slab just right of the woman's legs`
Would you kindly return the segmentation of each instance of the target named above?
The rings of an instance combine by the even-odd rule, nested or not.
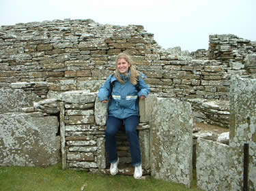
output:
[[[147,99],[151,112],[151,170],[156,179],[187,187],[192,181],[193,116],[191,105],[173,98]]]

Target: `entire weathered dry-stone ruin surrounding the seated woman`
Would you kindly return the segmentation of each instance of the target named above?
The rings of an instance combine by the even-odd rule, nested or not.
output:
[[[202,190],[255,190],[256,43],[210,35],[209,49],[162,49],[142,26],[53,20],[0,27],[0,165],[109,173],[106,105],[96,92],[132,55],[152,94],[140,103],[143,174]],[[229,131],[225,144],[195,133],[195,122]],[[193,133],[194,131],[194,133]],[[120,173],[132,168],[124,130]],[[244,143],[248,172],[244,173]]]

